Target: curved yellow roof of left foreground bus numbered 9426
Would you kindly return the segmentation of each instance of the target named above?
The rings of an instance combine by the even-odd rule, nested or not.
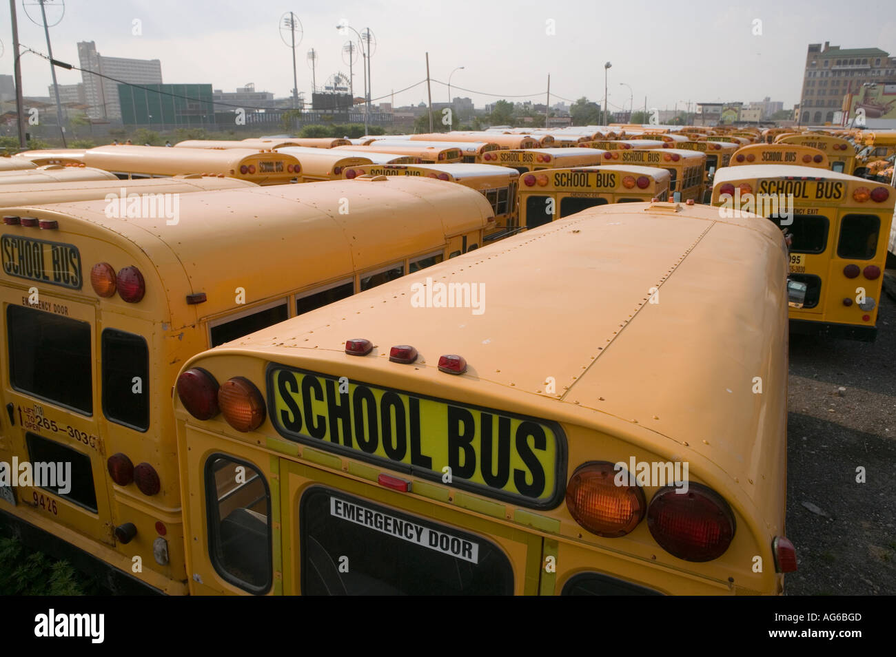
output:
[[[348,200],[350,212],[340,213],[341,199]],[[163,280],[185,275],[194,293],[242,286],[247,304],[282,294],[284,277],[300,281],[313,272],[314,281],[325,281],[403,260],[414,240],[428,236],[432,243],[444,243],[445,235],[485,228],[494,216],[479,192],[406,176],[184,194],[177,224],[170,226],[165,217],[110,218],[107,207],[106,201],[80,201],[13,207],[4,213],[56,218],[63,230],[71,230],[73,222],[80,230],[96,226],[102,239],[123,241],[129,252],[145,254],[151,260],[145,266],[154,267]],[[395,239],[383,242],[378,235]],[[209,294],[196,307],[200,315],[233,307],[232,296],[214,297]],[[171,301],[171,311],[177,313],[182,299]]]

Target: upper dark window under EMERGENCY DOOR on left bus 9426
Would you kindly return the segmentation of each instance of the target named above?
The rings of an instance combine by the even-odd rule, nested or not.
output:
[[[93,414],[89,323],[10,305],[6,335],[13,388]]]

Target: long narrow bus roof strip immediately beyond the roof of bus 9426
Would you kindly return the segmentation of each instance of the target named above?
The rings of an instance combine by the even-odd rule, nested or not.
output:
[[[178,175],[174,178],[151,178],[129,180],[126,183],[117,178],[111,180],[73,181],[62,183],[23,183],[0,185],[0,208],[22,205],[47,205],[71,201],[93,201],[125,198],[128,202],[142,194],[183,194],[189,192],[211,192],[238,187],[255,187],[254,183],[236,178],[218,176]],[[141,201],[142,202],[142,201]],[[134,206],[135,207],[135,206]]]

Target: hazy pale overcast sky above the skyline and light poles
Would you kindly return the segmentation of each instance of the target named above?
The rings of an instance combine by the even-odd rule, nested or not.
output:
[[[37,0],[16,0],[23,45],[46,52]],[[49,4],[60,4],[52,0]],[[297,47],[298,89],[310,99],[309,48],[318,55],[317,82],[348,73],[336,25],[369,27],[378,41],[371,60],[374,98],[388,96],[426,78],[429,52],[433,100],[444,102],[443,84],[452,77],[452,96],[469,96],[477,107],[498,98],[536,94],[544,102],[547,74],[552,104],[587,96],[602,100],[603,64],[609,70],[609,105],[672,108],[676,102],[753,101],[766,96],[785,107],[798,101],[806,46],[879,47],[896,53],[896,10],[892,2],[843,4],[831,0],[759,0],[725,6],[718,0],[685,3],[623,0],[605,7],[594,0],[504,2],[503,0],[67,0],[65,16],[50,28],[56,59],[78,64],[76,43],[96,42],[100,55],[159,59],[162,80],[211,83],[233,91],[254,82],[255,90],[287,96],[292,88],[289,48],[280,40],[280,17],[290,10],[302,23]],[[336,7],[341,7],[337,9]],[[861,12],[857,13],[857,9]],[[50,21],[59,15],[48,6]],[[13,73],[9,3],[0,2],[0,73]],[[754,36],[754,21],[762,21]],[[134,20],[142,36],[133,35]],[[555,34],[547,34],[553,21]],[[349,35],[352,34],[349,31]],[[353,35],[352,35],[353,36]],[[49,64],[22,56],[26,96],[47,96]],[[57,69],[60,84],[81,81],[81,73]],[[355,94],[363,94],[360,66]],[[455,90],[454,87],[465,88]],[[389,98],[384,98],[389,100]],[[395,94],[397,106],[426,101],[426,84]]]

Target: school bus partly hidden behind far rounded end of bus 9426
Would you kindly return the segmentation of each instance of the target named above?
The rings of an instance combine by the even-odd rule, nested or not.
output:
[[[476,164],[444,165],[361,165],[343,169],[342,176],[358,180],[365,175],[409,175],[437,178],[450,183],[460,183],[476,190],[492,206],[494,223],[486,230],[486,242],[513,235],[519,228],[517,191],[520,174],[509,166],[489,166]]]

